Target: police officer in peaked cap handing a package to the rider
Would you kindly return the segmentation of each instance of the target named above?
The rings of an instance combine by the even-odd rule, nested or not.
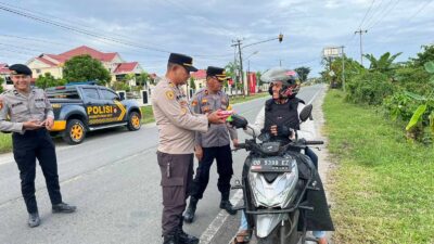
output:
[[[162,174],[164,244],[196,244],[199,239],[182,230],[182,213],[193,180],[194,131],[206,132],[209,124],[224,124],[218,112],[195,115],[181,88],[197,70],[191,56],[171,53],[167,73],[155,87],[152,105],[159,133],[157,160]]]

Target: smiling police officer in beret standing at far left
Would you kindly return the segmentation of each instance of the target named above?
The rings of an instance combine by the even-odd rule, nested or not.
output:
[[[76,207],[62,202],[54,143],[48,132],[54,120],[51,104],[43,90],[30,87],[30,68],[14,64],[9,69],[14,88],[0,95],[0,130],[13,132],[13,154],[29,214],[28,226],[37,227],[40,218],[35,197],[36,159],[46,178],[52,211],[73,213]]]

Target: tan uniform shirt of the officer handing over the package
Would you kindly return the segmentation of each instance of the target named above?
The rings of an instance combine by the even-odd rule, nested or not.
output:
[[[194,131],[208,130],[207,117],[193,114],[186,94],[166,77],[155,87],[152,106],[159,133],[158,151],[168,154],[194,153]]]

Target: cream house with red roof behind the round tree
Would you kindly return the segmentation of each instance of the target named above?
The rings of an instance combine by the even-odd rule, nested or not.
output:
[[[122,80],[127,74],[143,72],[138,62],[125,62],[117,52],[101,52],[87,46],[81,46],[60,54],[42,53],[33,57],[26,64],[31,68],[34,78],[50,73],[55,78],[63,77],[63,66],[66,61],[74,56],[88,54],[101,61],[103,66],[112,74],[112,81]]]

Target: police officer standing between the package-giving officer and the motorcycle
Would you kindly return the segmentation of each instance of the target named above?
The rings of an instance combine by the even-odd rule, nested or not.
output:
[[[197,91],[191,102],[194,113],[205,114],[228,108],[229,97],[221,91],[226,80],[225,68],[209,66],[206,69],[206,88]],[[230,180],[233,175],[229,136],[237,145],[237,129],[228,125],[212,125],[208,132],[196,132],[195,155],[199,166],[191,189],[190,204],[183,216],[186,222],[192,222],[194,219],[197,202],[203,197],[209,181],[209,169],[214,159],[217,162],[219,176],[217,188],[221,193],[220,208],[230,215],[237,214],[229,202]]]

